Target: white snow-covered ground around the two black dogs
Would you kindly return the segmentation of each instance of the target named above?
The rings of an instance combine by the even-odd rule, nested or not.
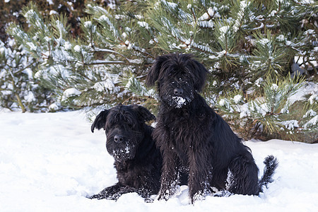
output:
[[[207,196],[189,204],[187,187],[168,201],[137,194],[87,199],[117,182],[104,131],[90,132],[80,112],[0,112],[0,211],[318,211],[318,144],[247,141],[263,170],[279,160],[275,181],[259,196]]]

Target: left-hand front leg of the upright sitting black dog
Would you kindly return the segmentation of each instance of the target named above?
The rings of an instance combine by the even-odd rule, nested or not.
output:
[[[179,158],[175,151],[165,148],[163,151],[163,171],[161,174],[161,185],[158,200],[169,199],[175,194],[178,183]]]

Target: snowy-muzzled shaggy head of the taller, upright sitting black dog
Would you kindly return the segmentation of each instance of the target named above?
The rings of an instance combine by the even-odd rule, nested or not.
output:
[[[181,108],[201,92],[208,71],[191,54],[167,54],[155,59],[146,78],[147,86],[157,89],[160,100],[170,107]]]

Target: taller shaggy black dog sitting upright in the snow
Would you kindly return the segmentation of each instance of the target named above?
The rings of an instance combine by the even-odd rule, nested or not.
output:
[[[146,78],[160,98],[160,110],[153,138],[163,154],[163,172],[158,199],[175,192],[180,167],[189,172],[189,196],[192,203],[212,187],[235,194],[261,192],[272,182],[276,158],[268,156],[264,176],[247,146],[230,126],[199,95],[208,71],[190,54],[158,57]]]

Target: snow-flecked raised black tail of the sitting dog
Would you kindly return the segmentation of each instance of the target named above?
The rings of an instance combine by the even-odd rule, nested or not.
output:
[[[273,182],[271,178],[275,173],[276,167],[278,166],[278,160],[273,155],[269,155],[264,160],[264,174],[259,180],[259,192],[263,192],[263,187],[267,188],[267,184]]]

